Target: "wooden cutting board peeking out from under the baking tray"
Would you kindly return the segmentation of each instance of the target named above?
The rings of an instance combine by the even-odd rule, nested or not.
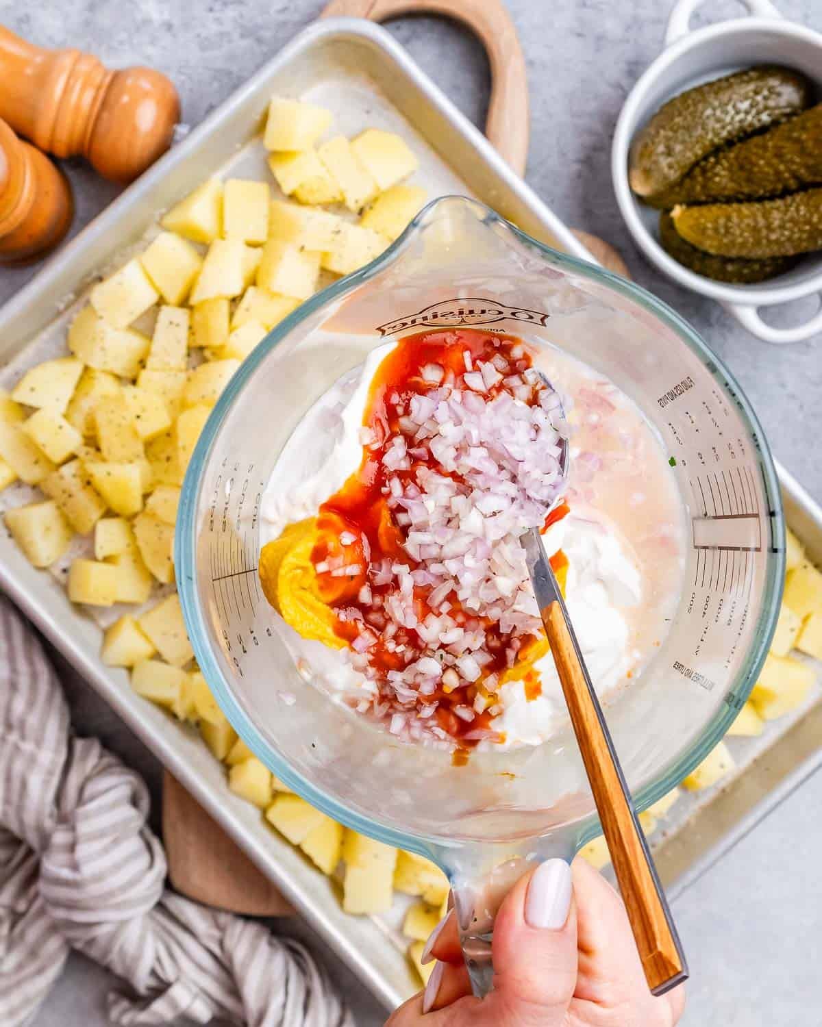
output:
[[[485,134],[514,170],[524,176],[529,129],[525,58],[501,0],[331,0],[321,17],[384,22],[423,12],[464,23],[484,44],[491,67]],[[597,235],[572,231],[598,263],[630,277],[613,246]],[[162,833],[169,875],[178,891],[234,913],[288,916],[294,912],[268,878],[167,771]]]

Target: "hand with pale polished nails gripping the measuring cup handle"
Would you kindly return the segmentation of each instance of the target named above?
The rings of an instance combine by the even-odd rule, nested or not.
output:
[[[619,895],[585,860],[549,860],[506,897],[493,935],[494,989],[471,993],[453,910],[426,946],[424,992],[385,1027],[673,1027],[680,985],[648,991]]]

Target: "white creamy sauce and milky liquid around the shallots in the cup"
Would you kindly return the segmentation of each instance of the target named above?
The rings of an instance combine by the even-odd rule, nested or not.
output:
[[[386,343],[372,350],[362,369],[329,389],[295,429],[263,493],[261,545],[288,524],[315,516],[360,467],[360,428],[371,380],[395,346]],[[571,512],[544,539],[549,555],[562,548],[568,558],[566,605],[594,686],[605,695],[641,672],[665,634],[684,563],[681,503],[661,444],[638,408],[615,386],[553,351],[537,354],[534,366],[574,397],[567,493]],[[598,449],[616,445],[624,452],[604,470],[595,467],[592,472]],[[374,686],[350,665],[347,650],[302,639],[281,617],[276,620],[303,677],[354,706],[359,697],[361,709],[367,708]],[[505,732],[506,741],[483,741],[481,749],[539,745],[567,719],[551,654],[535,669],[541,694],[527,698],[521,681],[502,685],[502,712],[493,725]]]

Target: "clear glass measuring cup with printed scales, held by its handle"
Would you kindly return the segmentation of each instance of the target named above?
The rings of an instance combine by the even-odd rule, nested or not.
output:
[[[670,452],[688,518],[668,637],[605,702],[640,808],[720,739],[773,633],[784,574],[776,473],[728,372],[637,287],[541,245],[463,197],[431,203],[373,264],[305,303],[247,358],[210,418],[178,519],[177,578],[209,684],[240,737],[329,815],[449,874],[475,987],[490,984],[499,897],[528,861],[596,831],[570,725],[535,748],[449,754],[403,745],[307,685],[257,579],[259,506],[311,405],[386,339],[495,326],[610,378]]]

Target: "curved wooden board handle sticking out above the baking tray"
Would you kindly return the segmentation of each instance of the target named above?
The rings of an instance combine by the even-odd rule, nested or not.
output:
[[[331,0],[321,17],[385,22],[402,14],[442,14],[474,31],[491,66],[485,135],[520,175],[528,157],[528,80],[517,31],[501,0]]]

